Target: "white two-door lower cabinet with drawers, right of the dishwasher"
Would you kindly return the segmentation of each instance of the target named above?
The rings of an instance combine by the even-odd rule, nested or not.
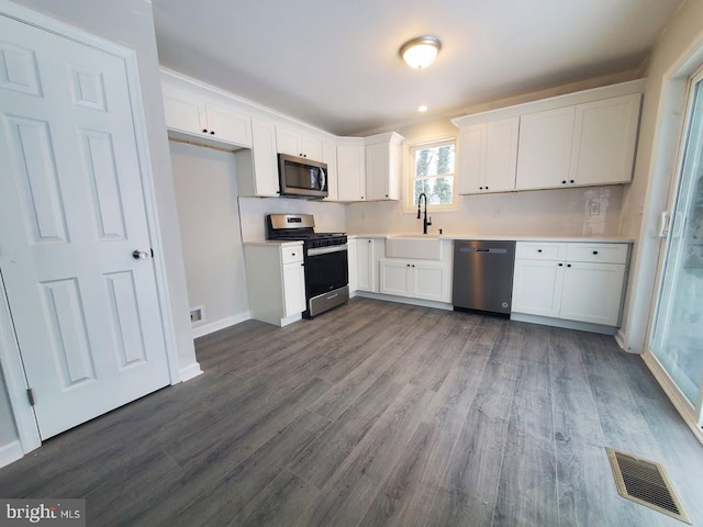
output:
[[[513,312],[618,326],[628,244],[518,242]]]

